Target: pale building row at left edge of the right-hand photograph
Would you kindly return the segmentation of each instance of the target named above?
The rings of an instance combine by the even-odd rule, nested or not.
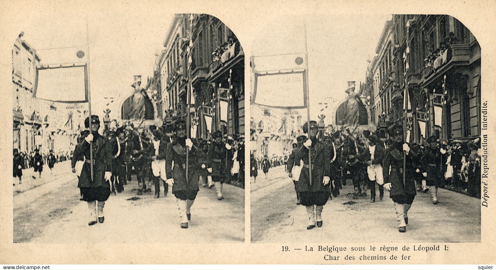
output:
[[[264,155],[288,156],[293,149],[293,141],[303,135],[301,127],[306,122],[302,120],[298,110],[251,104],[250,111],[250,144],[253,154],[260,158]]]

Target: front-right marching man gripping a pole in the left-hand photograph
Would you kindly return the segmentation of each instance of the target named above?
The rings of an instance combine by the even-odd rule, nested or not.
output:
[[[195,179],[195,172],[198,168],[196,164],[196,147],[189,138],[186,138],[186,122],[178,120],[176,122],[177,140],[167,146],[165,155],[165,171],[167,183],[172,185],[172,193],[176,196],[181,218],[181,228],[188,227],[188,221],[191,220],[190,208],[194,203],[198,193],[198,178]],[[188,174],[186,177],[186,147],[189,148],[188,156]],[[174,167],[172,163],[174,162]],[[205,166],[206,167],[206,166]]]

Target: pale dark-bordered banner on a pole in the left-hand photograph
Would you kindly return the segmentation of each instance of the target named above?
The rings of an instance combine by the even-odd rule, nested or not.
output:
[[[88,102],[86,65],[36,69],[33,97],[65,103]]]

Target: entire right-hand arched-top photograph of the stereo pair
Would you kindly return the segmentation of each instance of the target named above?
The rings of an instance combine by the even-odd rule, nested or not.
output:
[[[279,17],[250,56],[251,242],[480,242],[481,48],[450,15]]]

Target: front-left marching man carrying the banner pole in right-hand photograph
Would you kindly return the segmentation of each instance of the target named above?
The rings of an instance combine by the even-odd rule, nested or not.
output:
[[[300,202],[305,205],[309,217],[307,229],[313,229],[315,223],[322,226],[322,209],[329,199],[329,182],[331,174],[331,153],[329,147],[316,138],[318,126],[316,121],[310,121],[303,126],[303,132],[309,134],[309,139],[300,148],[300,159],[303,168],[296,184],[296,191],[300,193]],[[309,148],[311,150],[311,179],[309,164]],[[298,158],[297,158],[298,159]]]

